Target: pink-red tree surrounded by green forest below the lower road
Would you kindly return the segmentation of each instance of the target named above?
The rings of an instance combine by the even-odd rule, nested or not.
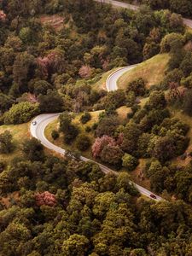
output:
[[[55,195],[49,193],[49,191],[44,191],[43,193],[37,193],[35,195],[35,200],[38,207],[41,207],[41,206],[55,207],[56,205]]]

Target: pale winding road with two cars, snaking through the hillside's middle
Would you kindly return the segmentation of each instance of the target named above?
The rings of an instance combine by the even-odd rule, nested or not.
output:
[[[117,80],[119,79],[119,77],[126,71],[131,70],[133,67],[136,67],[136,66],[137,65],[122,67],[122,68],[119,68],[117,71],[113,72],[111,75],[109,75],[106,82],[108,91],[117,90]],[[46,126],[49,125],[49,123],[51,123],[55,119],[57,119],[59,115],[60,113],[43,113],[38,115],[35,119],[32,119],[32,123],[30,125],[30,131],[31,131],[32,137],[36,137],[44,145],[45,148],[49,148],[51,150],[54,150],[58,154],[64,155],[66,153],[65,149],[57,147],[53,143],[50,143],[49,140],[44,136],[44,130]],[[36,124],[36,125],[33,125],[33,124]],[[113,172],[115,174],[118,174],[118,172],[114,172],[107,166],[103,166],[102,164],[97,163],[96,161],[87,159],[84,156],[81,156],[80,160],[95,162],[97,165],[100,166],[102,172],[104,173]],[[142,186],[136,183],[132,183],[132,182],[130,183],[134,185],[142,195],[146,195],[150,199],[153,199],[154,201],[162,200],[162,198],[158,195],[155,195],[156,199],[151,198],[150,195],[153,194],[151,191],[143,188]]]

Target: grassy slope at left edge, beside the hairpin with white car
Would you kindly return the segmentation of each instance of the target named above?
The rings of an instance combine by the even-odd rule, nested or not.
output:
[[[30,123],[21,125],[0,125],[0,133],[3,133],[3,131],[6,130],[10,131],[13,136],[13,142],[15,144],[15,149],[12,153],[0,154],[0,160],[10,161],[13,160],[15,157],[21,156],[21,144],[27,137],[30,137],[29,125]]]

